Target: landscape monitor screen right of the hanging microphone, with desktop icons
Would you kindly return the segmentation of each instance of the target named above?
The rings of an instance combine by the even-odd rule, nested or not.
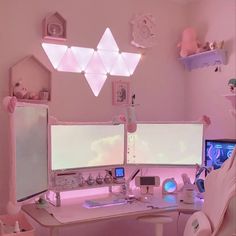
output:
[[[127,141],[127,164],[202,164],[203,124],[139,123]]]

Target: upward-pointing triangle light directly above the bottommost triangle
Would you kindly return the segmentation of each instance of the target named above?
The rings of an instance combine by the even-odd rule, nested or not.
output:
[[[85,72],[88,74],[106,74],[106,68],[98,54],[98,52],[94,52],[91,60],[89,61],[87,67],[85,68]]]

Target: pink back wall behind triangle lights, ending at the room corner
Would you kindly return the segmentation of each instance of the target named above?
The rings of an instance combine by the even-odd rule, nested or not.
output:
[[[176,61],[176,43],[185,21],[184,9],[166,1],[1,1],[1,97],[8,93],[9,68],[23,57],[33,54],[52,73],[50,113],[64,121],[108,121],[124,112],[112,106],[111,82],[121,77],[109,76],[100,95],[95,97],[81,74],[53,70],[41,47],[41,22],[55,11],[67,20],[68,44],[96,48],[109,27],[122,51],[142,52],[141,63],[130,78],[136,93],[137,117],[140,120],[184,119],[184,72]],[[130,44],[130,20],[136,13],[152,13],[157,21],[158,43],[152,49],[139,50]],[[166,14],[168,12],[168,14]],[[122,16],[122,17],[121,17]],[[171,16],[171,20],[170,20]],[[4,22],[7,22],[6,24]],[[173,53],[174,52],[174,53]],[[174,71],[174,73],[173,73]],[[34,79],[34,78],[32,78]],[[163,105],[164,103],[164,105]],[[7,134],[7,115],[1,109],[1,132]],[[7,201],[7,139],[1,136],[0,205]],[[2,174],[6,172],[5,174]]]

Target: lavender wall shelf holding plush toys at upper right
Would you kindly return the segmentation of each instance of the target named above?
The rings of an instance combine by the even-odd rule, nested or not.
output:
[[[226,51],[224,49],[215,49],[182,57],[179,60],[187,70],[191,71],[205,66],[226,64]]]

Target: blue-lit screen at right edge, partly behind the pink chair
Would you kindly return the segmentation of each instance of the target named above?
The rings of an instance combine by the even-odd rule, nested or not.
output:
[[[234,147],[236,139],[205,140],[205,166],[219,169],[231,156]]]

